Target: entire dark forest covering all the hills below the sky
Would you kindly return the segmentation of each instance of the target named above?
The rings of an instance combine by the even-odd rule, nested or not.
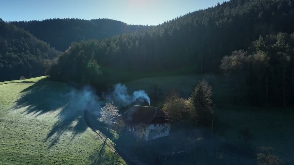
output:
[[[1,21],[1,80],[47,69],[54,80],[104,88],[134,75],[122,73],[225,74],[235,102],[286,106],[294,92],[293,5],[232,0],[158,26],[108,19]],[[59,51],[44,41],[65,52],[54,59]]]

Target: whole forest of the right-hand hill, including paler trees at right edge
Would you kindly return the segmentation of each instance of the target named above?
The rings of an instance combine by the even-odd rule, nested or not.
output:
[[[121,71],[225,73],[236,102],[287,105],[293,100],[293,5],[292,0],[232,0],[134,33],[72,43],[50,75],[99,86]],[[76,74],[93,60],[101,67],[100,78]]]

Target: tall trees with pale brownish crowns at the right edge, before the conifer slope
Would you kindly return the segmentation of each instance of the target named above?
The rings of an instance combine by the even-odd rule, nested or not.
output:
[[[236,102],[293,103],[294,33],[260,35],[247,51],[233,51],[221,62]]]

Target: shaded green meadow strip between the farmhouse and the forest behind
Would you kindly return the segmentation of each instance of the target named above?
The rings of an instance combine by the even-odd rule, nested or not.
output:
[[[197,83],[203,78],[209,83],[209,85],[212,86],[214,102],[230,102],[230,93],[227,90],[228,88],[223,85],[224,76],[188,75],[148,77],[129,81],[125,83],[125,85],[128,87],[130,92],[138,89],[145,90],[149,96],[152,96],[154,93],[151,86],[156,85],[161,90],[161,96],[159,98],[161,100],[164,100],[169,90],[178,92],[181,97],[189,98]]]

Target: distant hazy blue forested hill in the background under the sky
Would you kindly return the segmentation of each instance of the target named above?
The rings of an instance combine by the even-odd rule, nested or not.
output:
[[[144,29],[143,25],[127,25],[126,23],[110,20],[82,19],[48,19],[42,21],[10,22],[32,33],[37,38],[50,43],[59,51],[65,51],[72,42],[109,38],[117,34],[134,32]]]

